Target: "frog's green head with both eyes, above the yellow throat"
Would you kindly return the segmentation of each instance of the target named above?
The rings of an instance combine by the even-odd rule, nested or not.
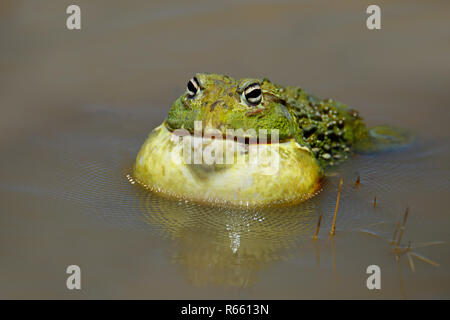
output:
[[[235,80],[198,73],[173,103],[166,125],[172,131],[193,133],[194,122],[201,121],[203,130],[218,130],[225,136],[228,129],[242,129],[240,132],[251,138],[254,133],[270,137],[271,130],[277,129],[279,139],[286,140],[294,136],[296,126],[281,92],[267,79]]]

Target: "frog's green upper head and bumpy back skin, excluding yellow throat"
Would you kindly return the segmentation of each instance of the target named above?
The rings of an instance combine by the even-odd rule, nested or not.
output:
[[[283,87],[267,79],[240,79],[199,73],[200,91],[194,97],[180,96],[167,118],[170,130],[194,131],[194,121],[203,128],[215,128],[224,135],[227,129],[279,130],[280,141],[295,139],[311,150],[322,167],[346,159],[358,145],[371,149],[369,130],[358,112],[332,99],[321,100],[298,87]],[[262,101],[246,102],[243,91],[258,83]],[[364,142],[363,144],[361,144]]]

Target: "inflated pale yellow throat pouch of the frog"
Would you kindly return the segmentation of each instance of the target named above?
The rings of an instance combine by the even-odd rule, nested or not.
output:
[[[153,130],[137,155],[135,180],[170,197],[238,206],[303,201],[320,187],[320,166],[293,139],[255,144],[184,133]]]

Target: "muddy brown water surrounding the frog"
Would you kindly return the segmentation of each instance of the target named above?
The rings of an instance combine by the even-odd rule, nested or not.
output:
[[[1,5],[1,298],[450,297],[448,2],[381,2],[379,31],[364,1],[79,3],[81,31],[65,29],[70,2]],[[161,199],[126,175],[199,71],[300,85],[416,140],[356,155],[295,207]],[[406,207],[402,244],[439,266],[396,260]]]

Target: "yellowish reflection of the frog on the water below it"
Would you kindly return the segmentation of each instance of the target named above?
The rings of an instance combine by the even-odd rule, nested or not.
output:
[[[174,240],[173,262],[193,285],[246,287],[260,270],[286,259],[314,233],[316,201],[283,208],[213,208],[144,196],[151,225]]]

